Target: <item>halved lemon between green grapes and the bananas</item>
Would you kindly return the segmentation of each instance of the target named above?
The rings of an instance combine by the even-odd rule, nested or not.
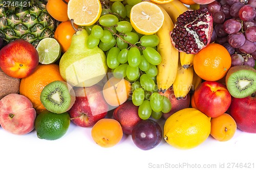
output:
[[[144,35],[155,34],[163,25],[162,10],[150,1],[134,5],[130,13],[130,22],[135,31]]]

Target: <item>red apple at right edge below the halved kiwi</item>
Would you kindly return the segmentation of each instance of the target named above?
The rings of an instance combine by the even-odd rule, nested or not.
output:
[[[256,133],[256,92],[246,98],[233,98],[228,113],[236,121],[238,129]]]

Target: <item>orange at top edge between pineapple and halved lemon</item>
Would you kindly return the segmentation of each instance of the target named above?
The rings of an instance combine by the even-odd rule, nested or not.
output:
[[[58,21],[67,21],[68,5],[62,0],[48,0],[46,4],[47,12]]]

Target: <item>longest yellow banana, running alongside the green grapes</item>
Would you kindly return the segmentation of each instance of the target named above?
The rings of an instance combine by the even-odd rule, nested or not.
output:
[[[163,26],[156,33],[159,37],[157,51],[161,55],[161,63],[157,66],[157,87],[159,91],[165,92],[173,85],[177,75],[179,52],[170,41],[170,31],[174,28],[174,23],[168,13],[158,5],[164,13]]]

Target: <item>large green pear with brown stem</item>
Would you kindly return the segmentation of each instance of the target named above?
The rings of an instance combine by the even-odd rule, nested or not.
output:
[[[78,29],[59,61],[61,77],[72,86],[90,87],[101,81],[108,71],[105,53],[98,46],[88,48],[88,36],[85,29]]]

